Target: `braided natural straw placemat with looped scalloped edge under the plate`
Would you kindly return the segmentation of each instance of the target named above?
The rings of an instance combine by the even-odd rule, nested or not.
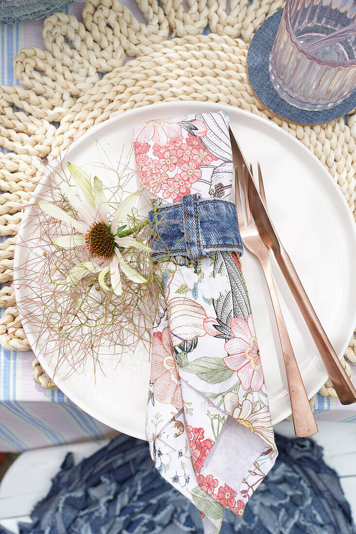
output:
[[[356,114],[322,125],[288,123],[254,96],[246,73],[248,43],[261,23],[283,6],[231,0],[136,0],[147,24],[118,0],[87,0],[83,22],[56,13],[44,21],[47,50],[21,50],[14,58],[20,86],[0,88],[0,283],[12,281],[13,253],[21,208],[51,161],[92,125],[127,109],[170,100],[237,106],[274,121],[299,139],[329,170],[356,216]],[[209,35],[202,35],[205,27]],[[168,37],[173,40],[167,41]],[[239,37],[242,37],[239,38]],[[127,56],[136,57],[125,65]],[[100,73],[106,73],[100,79]],[[20,111],[16,111],[15,108]],[[56,128],[52,123],[59,122]],[[26,350],[13,285],[0,289],[0,343]],[[345,358],[356,363],[352,339]],[[347,360],[343,365],[352,374]],[[34,379],[53,387],[35,359]],[[321,389],[336,397],[330,381]]]

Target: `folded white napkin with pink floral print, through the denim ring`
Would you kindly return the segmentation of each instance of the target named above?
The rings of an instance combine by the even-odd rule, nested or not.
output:
[[[164,203],[229,199],[225,112],[133,127],[142,187]],[[241,515],[277,450],[249,297],[236,252],[161,264],[165,306],[151,343],[146,436],[161,475],[190,499],[205,534]]]

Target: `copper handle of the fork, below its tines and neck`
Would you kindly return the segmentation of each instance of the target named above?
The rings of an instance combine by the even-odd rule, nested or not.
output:
[[[265,274],[270,298],[272,300],[278,334],[281,340],[295,434],[299,437],[313,436],[318,432],[318,427],[316,426],[313,410],[309,404],[303,380],[301,380],[297,360],[289,339],[287,326],[285,326],[268,258],[261,261],[261,264]]]

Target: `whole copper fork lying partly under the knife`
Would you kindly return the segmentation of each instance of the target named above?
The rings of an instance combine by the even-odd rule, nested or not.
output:
[[[245,171],[245,166],[243,166],[244,174]],[[266,247],[264,241],[262,241],[257,227],[252,221],[246,177],[243,176],[241,181],[245,197],[247,224],[244,222],[240,197],[239,177],[237,174],[237,168],[235,168],[235,200],[239,231],[244,246],[247,248],[247,250],[250,250],[254,256],[257,257],[262,266],[262,270],[264,271],[268,291],[273,305],[274,315],[276,318],[278,335],[280,336],[281,341],[295,434],[296,436],[300,437],[313,436],[318,432],[318,427],[316,426],[313,410],[309,404],[303,380],[301,380],[297,360],[289,339],[287,327],[285,326],[280,302],[278,301],[278,296],[272,277],[272,271],[268,261],[268,248]]]

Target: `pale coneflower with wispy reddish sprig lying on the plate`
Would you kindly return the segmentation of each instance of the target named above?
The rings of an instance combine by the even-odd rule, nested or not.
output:
[[[60,170],[64,176],[62,182],[57,169],[50,169],[44,202],[34,206],[35,224],[32,220],[31,227],[38,239],[35,248],[32,239],[23,245],[32,250],[22,266],[25,276],[20,281],[26,286],[26,291],[21,292],[26,296],[18,304],[26,310],[24,320],[36,329],[38,349],[50,358],[57,358],[56,372],[65,363],[67,374],[71,374],[82,368],[88,358],[96,372],[103,355],[112,354],[119,362],[123,352],[134,351],[142,339],[149,340],[149,331],[160,308],[161,273],[153,267],[146,245],[147,219],[132,202],[128,210],[122,209],[118,214],[120,206],[125,204],[125,187],[133,172],[126,168],[126,172],[118,174],[117,188],[109,191],[104,213],[96,199],[97,193],[103,199],[98,178],[92,185],[91,198],[88,184],[91,186],[92,181],[86,173],[81,174],[82,169],[69,168],[79,193],[74,190],[72,178],[65,177],[63,168]],[[81,208],[72,194],[76,200],[89,203],[91,219],[96,213],[91,225],[88,226],[90,216],[86,221],[81,218]],[[135,193],[137,198],[141,194]],[[51,211],[49,205],[55,210]],[[58,221],[57,208],[68,218],[63,216]],[[95,224],[96,234],[92,232]],[[112,260],[116,262],[116,256],[117,267],[113,268]]]

